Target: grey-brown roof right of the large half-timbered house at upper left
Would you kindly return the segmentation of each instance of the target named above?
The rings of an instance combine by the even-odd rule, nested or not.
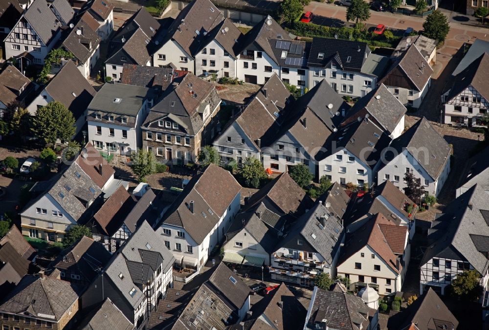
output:
[[[80,31],[80,34],[78,34]],[[70,51],[81,64],[85,64],[95,53],[102,38],[83,19],[78,21],[63,41],[63,47]],[[62,37],[63,38],[63,37]]]

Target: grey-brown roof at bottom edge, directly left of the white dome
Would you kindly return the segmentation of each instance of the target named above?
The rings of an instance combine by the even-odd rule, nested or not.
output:
[[[327,291],[314,287],[308,329],[315,329],[315,322],[328,319],[328,327],[341,330],[366,329],[377,312],[369,308],[360,297],[339,291]]]

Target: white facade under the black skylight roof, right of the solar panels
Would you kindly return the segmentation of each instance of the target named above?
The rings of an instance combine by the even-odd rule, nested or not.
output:
[[[342,71],[333,63],[330,67],[309,68],[309,88],[313,88],[325,79],[340,95],[361,97],[375,88],[377,77],[361,72]]]

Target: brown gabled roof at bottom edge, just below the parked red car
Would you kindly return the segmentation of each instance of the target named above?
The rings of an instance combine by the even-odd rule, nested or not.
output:
[[[265,298],[253,305],[252,311],[254,317],[269,320],[277,330],[302,329],[307,313],[306,308],[302,306],[283,282]],[[248,329],[261,330],[264,328],[260,324],[255,323]],[[269,329],[272,328],[270,327]]]

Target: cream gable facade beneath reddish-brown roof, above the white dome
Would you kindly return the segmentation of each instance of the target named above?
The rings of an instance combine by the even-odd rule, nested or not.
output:
[[[407,239],[407,235],[406,235]],[[364,257],[361,257],[363,253]],[[372,258],[372,255],[375,257]],[[406,258],[408,260],[408,258]],[[356,264],[361,264],[361,268],[357,269]],[[374,265],[380,265],[380,270],[374,270]],[[338,265],[338,276],[346,276],[350,278],[350,282],[363,282],[375,283],[378,285],[378,293],[380,295],[387,295],[392,292],[400,291],[403,283],[403,273],[407,267],[403,268],[403,271],[398,274],[394,271],[389,264],[387,264],[378,253],[369,245],[363,246],[353,256],[348,258],[345,262]],[[363,281],[360,281],[359,276],[363,276]]]

